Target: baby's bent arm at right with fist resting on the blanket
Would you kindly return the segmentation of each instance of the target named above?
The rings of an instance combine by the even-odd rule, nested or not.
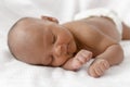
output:
[[[89,67],[89,74],[99,77],[112,65],[119,64],[123,60],[123,51],[120,45],[109,46],[103,53],[99,54]]]

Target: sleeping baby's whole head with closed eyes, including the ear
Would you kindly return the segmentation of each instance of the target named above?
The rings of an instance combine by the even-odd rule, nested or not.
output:
[[[60,66],[76,52],[70,32],[54,17],[24,17],[9,32],[12,54],[29,64]]]

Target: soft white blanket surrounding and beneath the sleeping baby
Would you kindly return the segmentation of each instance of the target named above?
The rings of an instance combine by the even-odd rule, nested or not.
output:
[[[129,87],[130,41],[121,42],[125,61],[109,69],[101,78],[87,74],[88,65],[78,72],[60,67],[32,66],[16,61],[9,52],[6,34],[20,17],[48,14],[62,23],[80,11],[109,8],[130,25],[130,0],[0,0],[0,87]]]

